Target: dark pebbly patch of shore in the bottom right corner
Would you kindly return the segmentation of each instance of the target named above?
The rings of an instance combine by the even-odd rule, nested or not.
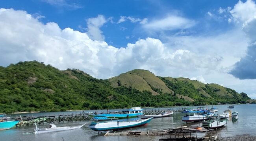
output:
[[[256,141],[256,136],[243,134],[232,137],[221,137],[219,138],[219,141]]]

